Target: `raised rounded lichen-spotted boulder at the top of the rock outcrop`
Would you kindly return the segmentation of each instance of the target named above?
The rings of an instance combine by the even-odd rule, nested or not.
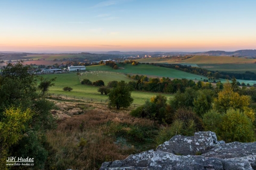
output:
[[[169,141],[160,144],[157,147],[157,151],[174,153],[176,155],[196,155],[207,153],[208,150],[218,144],[214,132],[198,132],[195,133],[195,136],[175,135]]]

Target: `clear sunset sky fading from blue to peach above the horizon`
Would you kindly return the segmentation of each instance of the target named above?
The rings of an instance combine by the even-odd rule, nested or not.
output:
[[[256,49],[256,0],[0,0],[0,51]]]

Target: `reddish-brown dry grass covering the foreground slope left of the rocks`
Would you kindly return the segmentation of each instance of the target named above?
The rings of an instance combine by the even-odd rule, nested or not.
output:
[[[78,102],[58,101],[55,106],[52,112],[58,118],[58,127],[47,132],[50,155],[46,169],[99,169],[104,161],[138,152],[128,142],[116,142],[115,134],[130,134],[135,127],[155,128],[154,121],[131,117],[130,110]]]

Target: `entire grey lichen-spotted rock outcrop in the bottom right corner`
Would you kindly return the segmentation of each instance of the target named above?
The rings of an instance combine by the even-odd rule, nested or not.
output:
[[[256,142],[225,144],[210,131],[175,135],[155,151],[104,162],[99,170],[256,170]]]

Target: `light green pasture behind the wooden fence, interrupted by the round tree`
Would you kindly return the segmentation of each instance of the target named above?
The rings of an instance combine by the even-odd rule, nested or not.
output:
[[[82,78],[86,77],[89,80],[96,81],[100,80],[96,78],[95,73],[88,73],[90,75],[81,75]],[[100,73],[98,72],[99,76]],[[112,76],[113,74],[113,76]],[[103,73],[100,77],[102,80],[105,82],[107,85],[107,82],[112,81],[111,78],[114,77],[113,80],[116,81],[132,81],[131,79],[125,77],[123,74],[117,74],[117,73],[111,73],[111,76],[105,76],[106,73]],[[47,75],[42,75],[44,78],[54,78],[57,77],[55,83],[55,86],[52,86],[49,88],[50,93],[56,93],[56,94],[63,94],[63,95],[73,95],[73,96],[78,96],[78,97],[85,97],[85,98],[95,98],[95,99],[102,99],[106,100],[108,99],[107,95],[101,95],[99,92],[97,92],[97,89],[99,87],[97,86],[87,86],[83,85],[79,81],[79,76],[76,75],[76,73],[63,73],[63,74],[47,74]],[[98,76],[97,76],[98,77]],[[65,92],[63,90],[63,87],[65,86],[70,86],[73,88],[71,92]],[[131,97],[134,98],[134,104],[144,104],[147,99],[150,99],[152,96],[157,95],[158,93],[151,93],[151,92],[139,92],[139,91],[133,91],[131,94]],[[172,97],[173,95],[170,94],[163,94],[167,98]]]

